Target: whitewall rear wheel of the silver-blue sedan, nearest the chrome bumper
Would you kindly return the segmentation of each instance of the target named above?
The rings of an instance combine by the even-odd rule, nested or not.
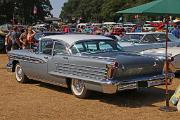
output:
[[[89,96],[89,91],[86,89],[84,81],[82,80],[73,79],[71,81],[71,91],[76,97],[81,99]]]

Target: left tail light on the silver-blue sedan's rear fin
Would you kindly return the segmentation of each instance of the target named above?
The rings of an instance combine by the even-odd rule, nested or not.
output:
[[[119,67],[119,63],[118,63],[118,62],[113,62],[112,64],[106,65],[106,68],[107,68],[106,78],[107,78],[107,79],[113,78],[114,71],[115,71],[118,67]]]

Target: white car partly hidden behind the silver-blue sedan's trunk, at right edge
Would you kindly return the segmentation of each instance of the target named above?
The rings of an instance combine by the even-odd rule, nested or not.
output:
[[[143,55],[153,55],[161,59],[165,59],[165,48],[149,49],[140,52]],[[173,71],[180,73],[180,47],[168,47],[168,57],[173,57],[172,67]]]

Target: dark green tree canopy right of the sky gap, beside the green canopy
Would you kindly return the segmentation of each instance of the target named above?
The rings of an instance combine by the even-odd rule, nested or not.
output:
[[[64,4],[60,17],[71,21],[82,18],[84,21],[117,21],[118,10],[134,7],[152,0],[69,0]]]

